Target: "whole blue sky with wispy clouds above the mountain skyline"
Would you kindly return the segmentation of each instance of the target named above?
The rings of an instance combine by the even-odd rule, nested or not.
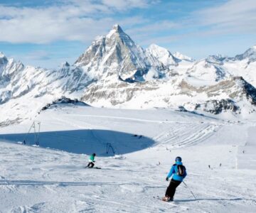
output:
[[[233,56],[256,44],[256,1],[0,0],[0,51],[26,65],[73,64],[114,23],[144,48]]]

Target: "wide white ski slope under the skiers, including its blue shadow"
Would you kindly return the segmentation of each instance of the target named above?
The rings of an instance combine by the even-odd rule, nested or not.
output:
[[[0,129],[0,212],[256,212],[255,121],[61,106],[36,117],[39,146],[32,120]],[[101,170],[85,168],[92,152]],[[184,185],[156,200],[177,155],[196,200]]]

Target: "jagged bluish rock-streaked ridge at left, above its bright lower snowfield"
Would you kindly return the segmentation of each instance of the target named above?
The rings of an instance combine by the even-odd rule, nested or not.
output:
[[[26,94],[42,97],[44,94],[65,94],[80,91],[91,82],[80,67],[65,62],[58,70],[24,66],[21,62],[3,56],[0,75],[0,104]]]

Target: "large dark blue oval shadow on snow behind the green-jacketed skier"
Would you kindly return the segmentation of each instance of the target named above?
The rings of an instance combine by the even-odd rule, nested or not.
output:
[[[17,143],[26,141],[26,145],[35,145],[35,133],[0,134],[7,142]],[[90,155],[114,155],[139,151],[153,146],[151,138],[137,136],[119,131],[100,129],[81,129],[70,131],[41,132],[38,144],[43,148],[53,148],[70,153],[85,153]]]

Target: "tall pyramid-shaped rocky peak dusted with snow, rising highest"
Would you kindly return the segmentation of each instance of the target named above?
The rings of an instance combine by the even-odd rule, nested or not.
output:
[[[127,82],[142,82],[148,72],[157,78],[165,70],[159,60],[146,54],[118,25],[106,36],[97,38],[75,65],[82,66],[96,79],[111,76]]]

